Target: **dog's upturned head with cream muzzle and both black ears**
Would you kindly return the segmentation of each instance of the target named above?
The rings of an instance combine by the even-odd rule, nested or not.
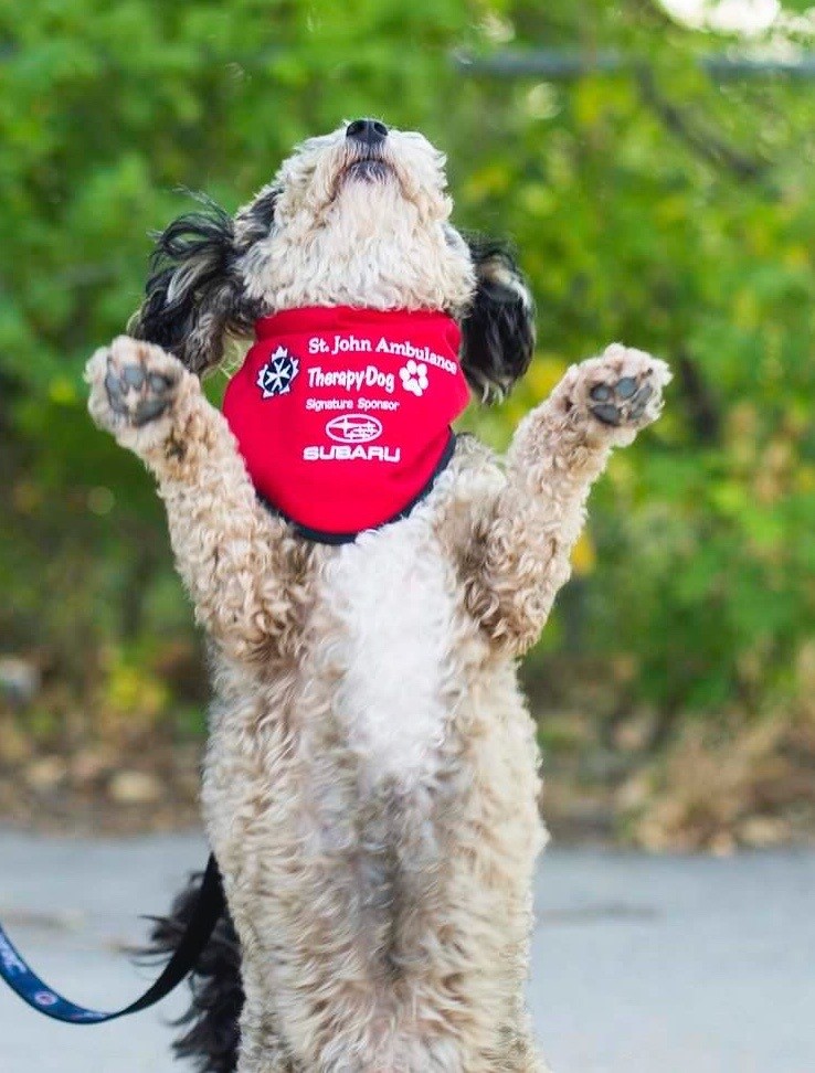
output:
[[[444,310],[470,386],[506,394],[532,354],[531,296],[506,245],[449,223],[444,164],[422,135],[374,119],[308,139],[234,219],[201,199],[158,236],[133,333],[203,373],[227,333],[282,309]]]

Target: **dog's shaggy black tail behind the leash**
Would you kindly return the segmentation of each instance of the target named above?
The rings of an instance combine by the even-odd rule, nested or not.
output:
[[[202,874],[190,878],[169,916],[154,918],[150,943],[139,952],[150,959],[172,956],[192,916]],[[173,1043],[177,1058],[191,1059],[198,1073],[234,1073],[237,1067],[239,1018],[243,1008],[241,948],[227,914],[189,976],[192,1002],[176,1021],[184,1032]]]

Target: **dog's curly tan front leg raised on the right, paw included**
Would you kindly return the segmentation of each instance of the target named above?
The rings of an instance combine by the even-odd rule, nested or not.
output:
[[[659,416],[669,380],[665,362],[615,343],[572,365],[519,425],[465,572],[469,610],[501,649],[519,655],[538,638],[569,577],[593,481],[613,447]]]

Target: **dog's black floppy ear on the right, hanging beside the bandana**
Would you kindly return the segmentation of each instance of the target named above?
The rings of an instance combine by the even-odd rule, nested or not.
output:
[[[504,399],[529,368],[534,302],[507,243],[466,237],[476,290],[462,321],[462,369],[484,402]]]

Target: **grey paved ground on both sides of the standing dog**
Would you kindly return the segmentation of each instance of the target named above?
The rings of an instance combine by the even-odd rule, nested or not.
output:
[[[149,974],[123,944],[161,912],[203,843],[67,842],[0,832],[0,920],[41,974],[87,1005]],[[815,853],[730,860],[544,854],[530,996],[555,1073],[814,1073]],[[181,1073],[167,1020],[46,1021],[0,992],[3,1073]]]

